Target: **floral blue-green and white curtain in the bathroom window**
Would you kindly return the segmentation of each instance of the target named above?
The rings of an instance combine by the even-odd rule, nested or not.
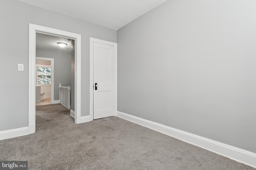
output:
[[[37,84],[51,84],[51,68],[37,67]]]

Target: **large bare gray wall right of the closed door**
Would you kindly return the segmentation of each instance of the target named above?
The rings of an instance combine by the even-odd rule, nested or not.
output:
[[[256,152],[256,1],[168,0],[118,30],[118,111]]]

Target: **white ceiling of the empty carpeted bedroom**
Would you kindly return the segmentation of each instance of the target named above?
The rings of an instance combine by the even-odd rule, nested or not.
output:
[[[118,30],[167,0],[19,0]]]

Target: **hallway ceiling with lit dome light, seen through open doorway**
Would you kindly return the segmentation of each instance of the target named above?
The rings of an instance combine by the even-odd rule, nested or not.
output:
[[[62,48],[57,43],[66,43],[66,47]],[[71,41],[67,38],[36,33],[36,48],[37,49],[51,49],[71,53]]]

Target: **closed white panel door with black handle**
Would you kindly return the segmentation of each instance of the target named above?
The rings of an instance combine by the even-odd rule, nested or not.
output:
[[[93,43],[94,119],[114,116],[114,46]]]

